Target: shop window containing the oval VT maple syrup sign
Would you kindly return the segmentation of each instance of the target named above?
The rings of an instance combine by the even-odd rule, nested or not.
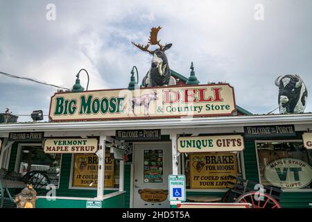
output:
[[[256,147],[261,184],[312,188],[312,151],[302,142],[256,142]]]

